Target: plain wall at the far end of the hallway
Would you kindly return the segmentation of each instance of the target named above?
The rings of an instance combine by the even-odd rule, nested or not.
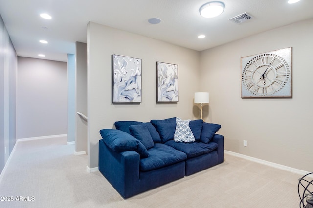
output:
[[[67,63],[18,57],[16,137],[67,134]]]

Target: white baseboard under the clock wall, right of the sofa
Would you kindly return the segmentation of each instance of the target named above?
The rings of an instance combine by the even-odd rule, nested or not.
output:
[[[253,162],[256,162],[256,163],[261,163],[263,165],[267,165],[267,166],[270,166],[270,167],[273,167],[273,168],[286,170],[286,171],[289,171],[289,172],[292,172],[292,173],[296,173],[296,174],[299,174],[299,175],[303,175],[303,176],[308,174],[308,173],[310,173],[308,171],[291,168],[291,167],[288,167],[288,166],[280,165],[280,164],[277,164],[277,163],[272,163],[272,162],[269,162],[269,161],[266,161],[266,160],[261,160],[261,159],[255,158],[255,157],[250,157],[250,156],[247,156],[247,155],[244,155],[244,154],[239,154],[239,153],[232,152],[232,151],[224,150],[224,153],[232,155],[232,156],[240,157],[240,158],[243,158],[243,159],[246,159],[246,160],[250,160],[250,161],[253,161]]]

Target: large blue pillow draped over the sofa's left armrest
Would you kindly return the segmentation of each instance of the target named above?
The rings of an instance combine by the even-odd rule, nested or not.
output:
[[[136,151],[140,154],[140,157],[146,158],[149,153],[145,146],[134,136],[117,129],[102,129],[100,134],[104,140],[104,143],[112,151]]]

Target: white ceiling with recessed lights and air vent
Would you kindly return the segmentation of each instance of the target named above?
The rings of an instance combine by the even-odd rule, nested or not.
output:
[[[18,56],[67,61],[75,42],[87,43],[89,21],[202,51],[293,22],[313,18],[313,0],[220,0],[224,12],[200,16],[212,0],[0,0],[0,14]],[[253,18],[236,24],[228,19],[244,12]],[[52,19],[39,15],[48,13]],[[148,19],[161,23],[150,24]],[[48,29],[43,29],[46,27]],[[198,35],[205,38],[199,39]],[[44,39],[48,44],[42,44]],[[260,40],[263,41],[263,40]]]

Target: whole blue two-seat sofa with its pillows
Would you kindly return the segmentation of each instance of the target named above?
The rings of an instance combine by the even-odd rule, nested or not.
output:
[[[169,118],[117,121],[115,127],[100,130],[99,170],[123,198],[224,161],[218,124]]]

